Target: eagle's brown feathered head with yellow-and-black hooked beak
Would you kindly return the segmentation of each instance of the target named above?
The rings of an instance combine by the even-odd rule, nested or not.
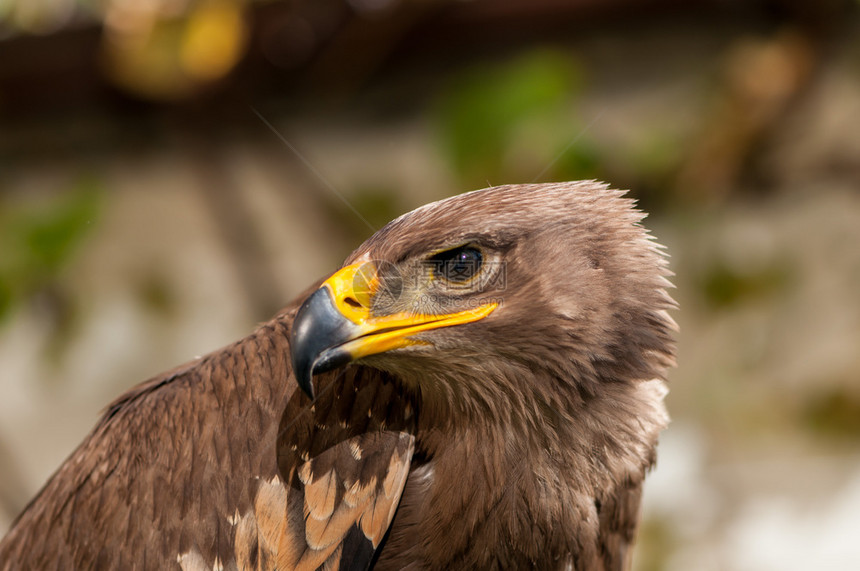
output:
[[[299,310],[301,388],[312,395],[312,375],[357,361],[468,411],[662,377],[668,271],[622,195],[594,182],[502,186],[392,221]]]

